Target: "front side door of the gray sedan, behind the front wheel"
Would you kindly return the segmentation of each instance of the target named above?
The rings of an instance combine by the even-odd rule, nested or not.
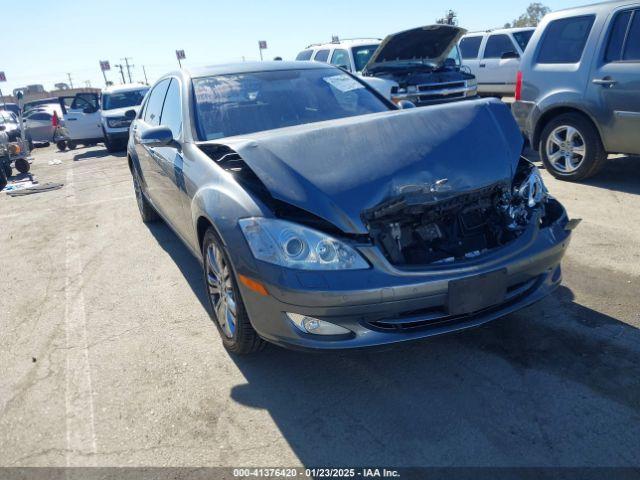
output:
[[[184,181],[184,157],[182,153],[182,99],[181,85],[172,78],[162,107],[160,125],[171,129],[174,141],[155,148],[156,168],[159,170],[158,191],[161,208],[171,222],[174,230],[184,237],[191,238],[193,223],[188,208]],[[188,212],[187,212],[188,210]]]

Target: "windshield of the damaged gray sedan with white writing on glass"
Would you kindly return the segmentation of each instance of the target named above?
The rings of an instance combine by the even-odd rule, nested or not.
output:
[[[201,140],[383,112],[390,107],[336,68],[277,70],[193,80]]]

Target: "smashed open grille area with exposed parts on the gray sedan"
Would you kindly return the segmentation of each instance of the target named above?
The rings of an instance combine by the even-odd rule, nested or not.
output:
[[[544,222],[549,200],[538,169],[521,159],[511,184],[463,193],[446,179],[408,186],[363,212],[372,241],[397,266],[446,264],[479,257]]]

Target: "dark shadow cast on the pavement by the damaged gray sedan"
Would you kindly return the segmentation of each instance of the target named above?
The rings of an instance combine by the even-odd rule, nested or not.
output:
[[[164,224],[150,231],[207,308],[198,262]],[[566,287],[484,327],[383,351],[231,358],[246,379],[231,398],[266,410],[306,466],[639,464],[640,331]],[[198,410],[211,425],[214,406]]]

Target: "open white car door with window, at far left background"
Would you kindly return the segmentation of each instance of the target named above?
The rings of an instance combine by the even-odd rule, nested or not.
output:
[[[65,127],[71,140],[99,140],[100,96],[97,93],[78,93],[73,97],[59,97]]]

